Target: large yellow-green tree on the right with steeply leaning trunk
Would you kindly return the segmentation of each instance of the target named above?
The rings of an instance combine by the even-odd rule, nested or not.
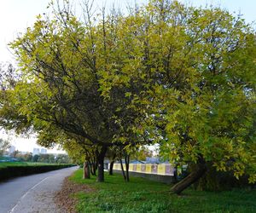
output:
[[[127,88],[127,107],[146,114],[137,131],[173,164],[193,164],[172,191],[181,193],[208,165],[256,181],[253,27],[224,9],[153,0],[118,31],[118,60],[103,72],[102,90]]]

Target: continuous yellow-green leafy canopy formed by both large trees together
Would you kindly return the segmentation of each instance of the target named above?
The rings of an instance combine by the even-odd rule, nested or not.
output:
[[[10,44],[22,78],[2,92],[1,124],[49,138],[60,130],[103,158],[111,146],[159,143],[163,157],[198,174],[212,164],[256,181],[252,26],[169,0],[84,14],[38,15]]]

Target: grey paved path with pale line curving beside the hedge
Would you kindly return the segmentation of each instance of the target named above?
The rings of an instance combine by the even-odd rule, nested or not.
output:
[[[0,182],[1,213],[62,213],[55,206],[55,192],[78,167],[23,176]]]

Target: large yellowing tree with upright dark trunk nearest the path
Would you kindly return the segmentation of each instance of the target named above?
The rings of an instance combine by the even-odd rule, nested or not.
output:
[[[118,14],[93,23],[85,3],[84,22],[64,1],[52,3],[52,17],[38,15],[10,47],[19,61],[20,78],[11,89],[2,90],[1,124],[18,133],[32,130],[41,145],[49,146],[60,134],[80,147],[96,147],[98,181],[104,180],[103,160],[108,147],[137,143],[129,127],[137,114],[126,105],[124,92],[102,96],[101,73],[108,60],[116,60],[107,46],[118,27]],[[128,138],[129,136],[129,138]],[[131,141],[135,139],[134,141]],[[67,140],[68,141],[68,140]]]

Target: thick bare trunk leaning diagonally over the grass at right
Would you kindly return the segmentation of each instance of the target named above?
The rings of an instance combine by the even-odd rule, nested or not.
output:
[[[205,163],[196,164],[195,169],[191,171],[189,176],[186,176],[183,180],[178,181],[172,188],[172,193],[181,193],[184,189],[191,186],[195,181],[198,181],[201,176],[207,171],[207,165]]]

